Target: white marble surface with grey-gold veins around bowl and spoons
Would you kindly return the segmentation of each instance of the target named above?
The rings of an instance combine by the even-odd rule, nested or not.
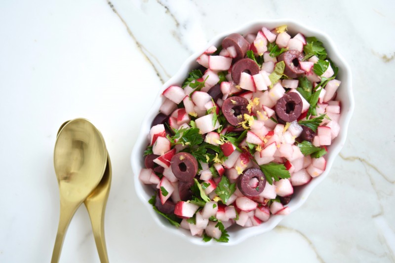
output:
[[[48,262],[59,197],[53,146],[63,121],[98,127],[113,162],[111,262],[395,262],[395,2],[7,1],[0,6],[0,262]],[[162,82],[222,31],[291,18],[325,31],[354,75],[347,144],[302,208],[235,247],[196,247],[154,224],[129,157]],[[60,262],[98,262],[81,207]]]

